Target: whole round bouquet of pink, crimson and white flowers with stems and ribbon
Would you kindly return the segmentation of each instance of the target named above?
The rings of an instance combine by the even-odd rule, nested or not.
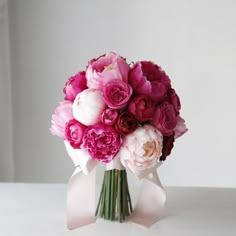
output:
[[[187,131],[168,75],[152,61],[128,64],[110,52],[90,60],[84,71],[68,79],[63,92],[64,101],[52,115],[51,133],[64,139],[76,174],[91,175],[98,163],[106,164],[94,214],[120,222],[129,217],[146,226],[154,223],[165,201],[156,168],[170,155],[175,139]],[[126,169],[144,180],[134,211]],[[80,185],[88,187],[91,181],[79,176]],[[149,198],[156,199],[155,204]],[[69,228],[90,222],[82,219],[89,214],[77,213],[69,220],[77,223]]]

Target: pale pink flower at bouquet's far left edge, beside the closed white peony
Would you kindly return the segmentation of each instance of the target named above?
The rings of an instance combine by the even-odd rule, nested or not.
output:
[[[50,132],[60,138],[65,138],[66,122],[73,118],[72,102],[60,102],[60,105],[55,109],[55,112],[52,115],[52,126],[49,129]]]

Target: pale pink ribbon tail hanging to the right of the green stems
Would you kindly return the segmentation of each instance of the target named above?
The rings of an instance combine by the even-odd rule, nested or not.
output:
[[[143,179],[136,206],[129,220],[150,227],[159,220],[165,201],[165,191],[154,170]]]

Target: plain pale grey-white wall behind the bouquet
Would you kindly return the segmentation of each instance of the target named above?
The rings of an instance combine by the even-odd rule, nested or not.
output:
[[[67,182],[73,165],[51,114],[67,78],[112,50],[160,64],[181,97],[189,132],[159,168],[163,184],[236,187],[235,11],[234,0],[9,0],[15,181]]]

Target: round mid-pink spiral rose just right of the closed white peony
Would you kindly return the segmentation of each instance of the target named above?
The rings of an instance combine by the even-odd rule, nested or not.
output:
[[[120,79],[107,82],[102,90],[104,102],[108,107],[114,109],[125,107],[131,94],[131,86]]]

